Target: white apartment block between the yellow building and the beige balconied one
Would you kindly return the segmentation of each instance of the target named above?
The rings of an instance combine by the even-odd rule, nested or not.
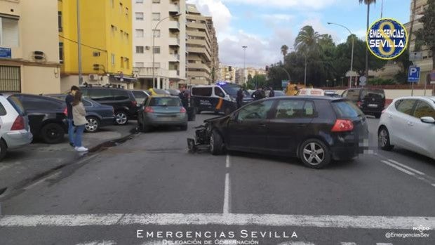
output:
[[[185,13],[185,0],[133,0],[136,88],[186,85]]]

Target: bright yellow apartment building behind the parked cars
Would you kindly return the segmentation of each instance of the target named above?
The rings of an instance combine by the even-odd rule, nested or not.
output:
[[[58,0],[61,88],[79,85],[77,1]],[[83,84],[133,88],[131,0],[79,1]],[[44,11],[45,12],[45,11]]]

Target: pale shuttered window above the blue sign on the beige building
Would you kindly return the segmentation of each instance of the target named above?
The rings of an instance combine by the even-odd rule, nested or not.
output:
[[[19,33],[18,20],[0,17],[0,46],[18,47]]]

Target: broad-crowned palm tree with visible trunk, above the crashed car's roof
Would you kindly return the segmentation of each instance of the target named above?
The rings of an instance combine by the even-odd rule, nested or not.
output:
[[[302,52],[305,57],[304,85],[307,86],[307,55],[309,53],[318,53],[321,49],[319,40],[321,34],[315,32],[313,27],[306,25],[300,29],[295,39],[295,50]]]

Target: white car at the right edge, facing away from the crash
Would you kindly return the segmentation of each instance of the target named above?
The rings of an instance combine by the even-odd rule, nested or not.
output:
[[[394,146],[435,159],[435,97],[396,98],[382,112],[377,131],[379,146]]]

